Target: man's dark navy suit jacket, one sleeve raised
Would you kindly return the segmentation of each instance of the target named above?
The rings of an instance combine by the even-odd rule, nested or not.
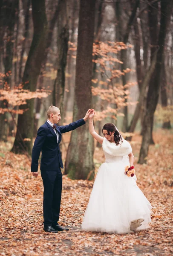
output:
[[[58,170],[59,166],[63,168],[61,152],[59,149],[61,134],[75,130],[84,124],[84,119],[80,119],[76,122],[70,123],[69,125],[56,125],[56,131],[58,131],[59,134],[58,143],[55,131],[47,121],[42,126],[40,126],[37,131],[37,137],[35,139],[34,146],[32,148],[31,172],[37,172],[38,170],[38,159],[40,156],[40,151],[42,152],[40,170]]]

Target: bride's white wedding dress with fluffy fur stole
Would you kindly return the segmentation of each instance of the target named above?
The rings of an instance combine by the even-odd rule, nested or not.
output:
[[[121,145],[103,141],[106,161],[98,169],[95,183],[84,214],[82,230],[107,233],[130,233],[130,222],[143,218],[136,230],[145,229],[151,222],[151,204],[138,188],[136,175],[124,174],[132,152],[130,143]]]

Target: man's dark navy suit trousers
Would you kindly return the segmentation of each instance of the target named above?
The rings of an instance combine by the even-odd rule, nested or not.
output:
[[[62,172],[41,170],[43,180],[43,218],[44,226],[56,225],[59,220],[62,192]]]

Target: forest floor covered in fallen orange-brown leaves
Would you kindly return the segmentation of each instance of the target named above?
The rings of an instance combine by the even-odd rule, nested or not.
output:
[[[69,140],[69,135],[63,135]],[[0,255],[5,256],[169,256],[173,254],[173,131],[154,133],[147,165],[137,164],[141,136],[131,142],[136,157],[137,184],[151,202],[152,223],[147,230],[126,235],[86,233],[82,218],[93,181],[63,176],[60,224],[68,232],[43,231],[43,185],[30,172],[30,159],[10,152],[12,138],[0,143]],[[104,161],[95,149],[96,171]],[[134,198],[135,200],[135,198]],[[171,222],[172,221],[172,222]]]

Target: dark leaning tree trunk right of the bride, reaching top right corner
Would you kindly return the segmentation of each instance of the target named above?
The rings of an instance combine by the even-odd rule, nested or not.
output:
[[[164,42],[166,38],[167,32],[167,21],[169,20],[170,14],[170,1],[169,0],[161,0],[161,19],[160,19],[160,31],[159,31],[159,40],[158,40],[158,54],[156,60],[156,67],[154,71],[154,79],[153,84],[150,83],[148,93],[147,93],[147,109],[144,116],[143,122],[143,137],[142,137],[142,145],[139,154],[138,163],[146,163],[147,162],[147,155],[150,145],[151,139],[151,128],[152,128],[152,119],[154,112],[156,110],[156,106],[159,99],[159,89],[160,89],[160,80],[161,80],[161,63],[163,61],[163,54],[164,54]]]

